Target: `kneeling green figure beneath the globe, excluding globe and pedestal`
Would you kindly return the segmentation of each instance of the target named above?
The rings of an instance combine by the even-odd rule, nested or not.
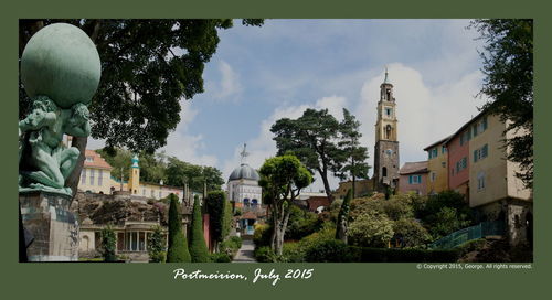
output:
[[[74,147],[66,148],[62,143],[63,135],[87,137],[91,132],[88,117],[88,108],[84,104],[62,109],[47,96],[33,98],[31,114],[19,122],[20,158],[28,158],[20,161],[21,191],[28,186],[72,194],[64,184],[75,168],[79,151]]]

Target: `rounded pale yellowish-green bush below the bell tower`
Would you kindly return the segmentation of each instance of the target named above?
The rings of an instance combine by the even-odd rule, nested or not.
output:
[[[364,247],[386,247],[393,234],[393,222],[376,212],[358,216],[347,232],[352,245]]]

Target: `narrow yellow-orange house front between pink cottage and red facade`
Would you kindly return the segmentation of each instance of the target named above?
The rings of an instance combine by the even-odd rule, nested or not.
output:
[[[427,194],[436,194],[448,190],[448,152],[446,141],[449,137],[436,141],[426,148],[427,151]]]

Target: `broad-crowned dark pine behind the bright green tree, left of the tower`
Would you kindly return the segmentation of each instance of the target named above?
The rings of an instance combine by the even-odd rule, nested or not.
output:
[[[323,182],[326,195],[333,200],[328,181],[330,172],[337,174],[342,168],[343,156],[337,146],[339,122],[328,109],[307,109],[300,118],[277,120],[270,131],[278,148],[278,156],[293,153]]]

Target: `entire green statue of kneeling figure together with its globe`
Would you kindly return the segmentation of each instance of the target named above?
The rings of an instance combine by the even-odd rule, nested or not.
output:
[[[65,180],[81,153],[65,147],[63,136],[91,133],[87,104],[99,77],[96,46],[81,29],[55,23],[29,40],[21,56],[21,82],[33,103],[19,122],[20,192],[73,194]]]

